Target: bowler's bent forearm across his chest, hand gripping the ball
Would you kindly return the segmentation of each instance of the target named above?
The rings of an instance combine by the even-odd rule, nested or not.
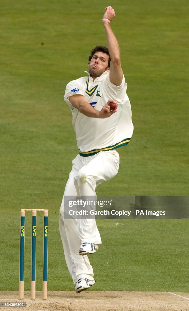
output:
[[[108,118],[117,111],[110,111],[110,106],[108,105],[110,102],[117,103],[115,100],[108,100],[107,104],[105,104],[100,111],[94,109],[83,95],[72,95],[69,101],[81,114],[85,114],[85,116],[90,118]]]

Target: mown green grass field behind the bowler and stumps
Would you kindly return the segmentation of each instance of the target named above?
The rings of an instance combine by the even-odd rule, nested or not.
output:
[[[67,82],[85,75],[90,50],[106,44],[101,18],[107,5],[116,12],[112,28],[134,134],[119,150],[118,175],[97,194],[188,195],[188,1],[2,0],[0,290],[18,288],[19,211],[26,207],[49,209],[49,290],[74,289],[58,231],[77,155],[63,95]],[[98,227],[103,244],[91,257],[96,290],[188,291],[188,220],[99,220]],[[25,254],[29,290],[29,217]],[[38,290],[41,258],[42,249]]]

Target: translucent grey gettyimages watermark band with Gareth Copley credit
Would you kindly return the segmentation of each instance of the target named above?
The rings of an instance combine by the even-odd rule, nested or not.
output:
[[[65,196],[64,218],[189,218],[189,196]]]

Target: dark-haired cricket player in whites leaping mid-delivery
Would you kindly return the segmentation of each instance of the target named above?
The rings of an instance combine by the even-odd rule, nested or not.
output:
[[[89,57],[88,76],[66,86],[64,100],[72,112],[79,154],[72,161],[64,196],[96,197],[95,188],[118,173],[117,149],[127,145],[132,136],[127,84],[118,41],[110,26],[114,16],[113,8],[106,7],[102,22],[108,48],[95,47]],[[117,109],[111,109],[110,102]],[[95,283],[87,254],[95,253],[102,242],[95,219],[65,219],[64,213],[63,197],[59,229],[67,267],[79,293]]]

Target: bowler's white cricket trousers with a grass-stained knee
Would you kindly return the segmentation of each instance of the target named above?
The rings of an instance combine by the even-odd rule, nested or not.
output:
[[[72,170],[64,196],[96,196],[95,188],[103,181],[113,178],[119,169],[117,151],[100,151],[94,156],[79,154],[72,161]],[[101,238],[95,219],[65,219],[64,196],[60,207],[59,230],[68,270],[74,284],[80,278],[94,280],[93,268],[87,255],[80,256],[82,242],[100,244]]]

